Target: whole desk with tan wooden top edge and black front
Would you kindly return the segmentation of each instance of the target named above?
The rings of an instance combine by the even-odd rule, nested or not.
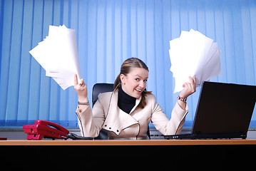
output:
[[[33,161],[43,165],[41,160],[58,157],[65,161],[65,166],[76,163],[76,168],[82,167],[81,163],[93,168],[123,163],[134,169],[139,163],[143,167],[166,164],[173,170],[180,167],[191,170],[190,166],[195,163],[204,163],[212,170],[223,167],[230,170],[228,161],[231,161],[245,170],[240,164],[248,163],[248,158],[255,154],[256,140],[2,140],[0,150],[6,162],[11,161],[10,165],[14,159],[19,163],[23,160],[27,165]],[[199,167],[202,166],[196,169]],[[239,170],[237,165],[235,169]]]

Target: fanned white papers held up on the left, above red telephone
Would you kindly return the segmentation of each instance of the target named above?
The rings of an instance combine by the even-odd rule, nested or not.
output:
[[[63,26],[49,26],[48,36],[29,51],[63,90],[73,86],[76,73],[81,79],[76,32]]]

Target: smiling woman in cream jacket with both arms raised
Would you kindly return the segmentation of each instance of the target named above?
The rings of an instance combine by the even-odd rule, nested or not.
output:
[[[113,92],[101,93],[91,109],[88,103],[86,83],[74,76],[78,95],[78,124],[81,135],[97,137],[101,129],[108,130],[108,137],[117,140],[148,139],[148,123],[151,122],[163,135],[179,134],[188,113],[186,99],[195,92],[195,77],[183,84],[183,90],[173,108],[170,120],[155,96],[145,90],[148,66],[138,58],[128,58],[114,83]]]

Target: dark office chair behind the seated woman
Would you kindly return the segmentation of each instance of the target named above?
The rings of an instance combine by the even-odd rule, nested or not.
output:
[[[93,105],[98,100],[99,93],[111,92],[114,90],[114,85],[111,83],[96,83],[93,86]],[[147,130],[147,135],[150,138],[149,126]],[[108,130],[101,129],[98,137],[94,138],[95,140],[108,140]]]

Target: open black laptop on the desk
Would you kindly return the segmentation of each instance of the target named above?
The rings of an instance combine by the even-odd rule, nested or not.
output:
[[[165,135],[166,139],[247,138],[255,108],[256,86],[203,83],[190,134]]]

